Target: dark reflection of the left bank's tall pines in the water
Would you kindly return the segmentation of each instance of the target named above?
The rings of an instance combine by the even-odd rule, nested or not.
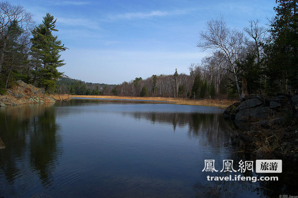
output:
[[[51,173],[61,153],[55,108],[48,104],[3,108],[0,127],[0,137],[6,146],[0,150],[0,175],[5,176],[1,183],[13,185],[16,178],[32,168],[44,186],[50,185]]]

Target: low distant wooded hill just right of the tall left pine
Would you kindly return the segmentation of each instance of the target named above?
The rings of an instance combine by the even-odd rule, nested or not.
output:
[[[72,95],[109,95],[115,86],[104,83],[88,83],[63,74],[56,82],[56,91]]]

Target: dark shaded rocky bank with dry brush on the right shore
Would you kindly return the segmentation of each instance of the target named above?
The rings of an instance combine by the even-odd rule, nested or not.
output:
[[[248,95],[223,113],[238,127],[238,136],[267,158],[298,161],[298,95]]]

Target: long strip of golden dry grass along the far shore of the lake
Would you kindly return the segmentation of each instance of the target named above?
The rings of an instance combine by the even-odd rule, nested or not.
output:
[[[60,96],[61,97],[61,96]],[[198,105],[198,106],[216,106],[226,108],[234,103],[234,100],[229,99],[182,99],[182,98],[163,98],[163,97],[121,97],[121,96],[69,96],[70,98],[96,98],[96,99],[138,99],[138,100],[154,100],[167,101],[175,104]],[[63,98],[67,98],[67,95]]]

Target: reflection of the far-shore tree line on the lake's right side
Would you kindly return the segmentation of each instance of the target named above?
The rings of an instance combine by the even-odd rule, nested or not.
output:
[[[221,114],[185,113],[185,112],[123,112],[136,120],[146,119],[155,123],[167,123],[177,127],[188,127],[190,137],[203,138],[202,144],[212,144],[214,147],[230,144],[229,124]],[[207,140],[207,141],[205,141]],[[224,145],[222,145],[224,144]]]

